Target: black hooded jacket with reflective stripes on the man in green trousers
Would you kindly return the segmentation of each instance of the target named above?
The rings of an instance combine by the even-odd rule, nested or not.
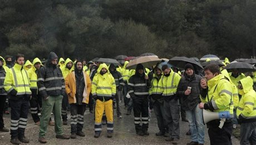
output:
[[[65,81],[61,69],[51,63],[51,60],[54,58],[57,58],[57,55],[51,52],[46,66],[42,66],[37,74],[38,91],[44,98],[47,96],[65,95]]]

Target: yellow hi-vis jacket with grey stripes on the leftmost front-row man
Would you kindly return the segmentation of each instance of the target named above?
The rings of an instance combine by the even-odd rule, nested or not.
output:
[[[15,64],[13,68],[7,71],[4,89],[8,93],[14,89],[17,91],[17,95],[31,95],[28,74],[21,65]]]

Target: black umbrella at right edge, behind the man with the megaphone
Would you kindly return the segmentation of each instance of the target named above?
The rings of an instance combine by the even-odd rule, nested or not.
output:
[[[227,69],[228,72],[231,72],[232,69],[238,69],[238,71],[240,73],[246,73],[246,72],[250,72],[250,71],[255,71],[256,68],[248,63],[244,63],[244,62],[234,62],[234,63],[230,63],[227,66],[225,66],[224,69]]]

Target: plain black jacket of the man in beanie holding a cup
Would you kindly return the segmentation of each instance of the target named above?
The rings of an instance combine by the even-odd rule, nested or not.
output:
[[[196,74],[193,74],[191,77],[189,77],[186,75],[186,73],[184,73],[184,76],[181,77],[177,88],[177,95],[182,99],[181,107],[184,110],[193,110],[200,102],[201,79],[202,77]],[[191,93],[186,96],[184,92],[186,89],[188,89],[188,86],[191,87]]]

